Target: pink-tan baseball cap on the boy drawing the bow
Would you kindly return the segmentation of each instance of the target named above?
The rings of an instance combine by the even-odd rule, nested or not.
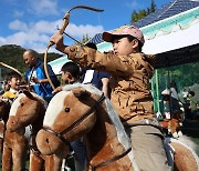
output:
[[[139,40],[142,44],[145,43],[143,32],[134,26],[122,26],[121,28],[117,28],[115,30],[105,31],[103,32],[103,40],[107,42],[112,42],[114,36],[127,36],[127,34],[133,36],[134,38]]]

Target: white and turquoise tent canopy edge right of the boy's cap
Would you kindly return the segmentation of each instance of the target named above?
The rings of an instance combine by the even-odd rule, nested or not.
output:
[[[163,27],[164,26],[164,27]],[[153,30],[156,29],[155,31]],[[145,53],[161,53],[199,43],[199,7],[142,28]]]

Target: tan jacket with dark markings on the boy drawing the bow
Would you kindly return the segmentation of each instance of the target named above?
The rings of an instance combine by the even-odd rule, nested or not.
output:
[[[149,83],[155,56],[144,53],[115,56],[112,52],[101,53],[86,47],[71,46],[69,59],[82,67],[112,74],[111,101],[123,122],[132,123],[155,117]]]

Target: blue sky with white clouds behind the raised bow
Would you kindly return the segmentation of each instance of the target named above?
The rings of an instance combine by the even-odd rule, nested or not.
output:
[[[156,8],[171,0],[155,0]],[[147,9],[150,0],[0,0],[0,46],[17,44],[44,52],[50,37],[61,28],[65,12],[75,6],[103,9],[93,12],[75,9],[65,32],[77,40],[130,23],[134,10]],[[66,44],[74,41],[64,37]],[[50,51],[55,51],[51,49]]]

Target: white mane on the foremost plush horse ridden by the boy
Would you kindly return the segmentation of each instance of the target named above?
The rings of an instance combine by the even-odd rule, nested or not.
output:
[[[101,90],[98,90],[97,88],[95,88],[93,84],[83,84],[83,83],[74,83],[74,84],[66,84],[63,88],[63,91],[71,91],[72,89],[75,88],[84,88],[85,90],[90,91],[91,93],[97,94],[97,95],[102,95],[103,92]],[[118,118],[117,112],[115,111],[114,107],[112,105],[111,101],[108,98],[105,98],[105,105],[106,105],[106,111],[108,113],[108,117],[112,121],[112,123],[115,127],[116,133],[117,133],[117,138],[118,141],[121,142],[121,144],[124,147],[125,150],[128,150],[129,147],[132,147],[130,140],[127,137],[125,129]],[[134,170],[138,170],[138,167],[135,162],[135,157],[133,151],[130,151],[128,153],[128,157],[133,163]]]

